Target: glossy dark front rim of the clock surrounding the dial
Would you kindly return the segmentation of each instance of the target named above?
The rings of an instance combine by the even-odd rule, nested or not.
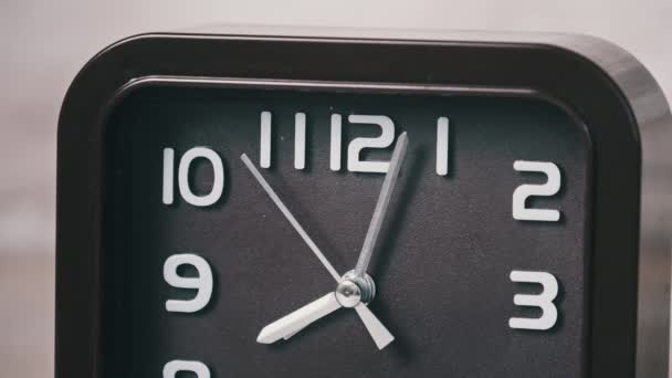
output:
[[[57,148],[56,356],[60,378],[101,377],[104,129],[124,87],[148,77],[495,88],[544,94],[589,130],[590,377],[634,377],[641,145],[630,103],[598,65],[542,43],[147,34],[95,56],[62,107]],[[618,190],[616,190],[618,189]],[[561,358],[561,356],[558,356]],[[666,361],[660,361],[665,364]]]

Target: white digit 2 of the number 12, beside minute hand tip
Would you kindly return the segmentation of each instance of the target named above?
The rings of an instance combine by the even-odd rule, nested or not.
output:
[[[380,136],[376,138],[359,137],[348,146],[348,170],[357,172],[387,172],[389,161],[360,160],[359,154],[365,148],[386,148],[395,140],[395,124],[387,116],[351,115],[350,124],[371,124],[380,126]]]

